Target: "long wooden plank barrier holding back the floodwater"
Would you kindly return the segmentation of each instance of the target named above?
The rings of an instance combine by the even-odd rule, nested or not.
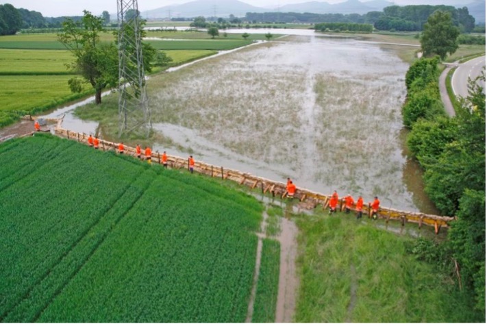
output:
[[[71,140],[78,140],[79,142],[88,145],[88,137],[85,134],[79,135],[76,132],[69,131],[63,129],[61,127],[55,127],[55,135],[68,138]],[[109,142],[107,140],[100,139],[100,146],[104,149],[106,148],[108,151],[115,151],[117,152],[118,143]],[[136,157],[136,150],[134,147],[125,146],[125,153],[124,155],[131,155]],[[153,162],[160,161],[160,155],[158,153],[152,154]],[[179,158],[174,155],[167,155],[168,166],[172,166],[173,168],[188,168],[188,159],[187,158]],[[254,189],[260,183],[260,188],[262,193],[270,192],[273,197],[278,195],[279,197],[283,198],[287,195],[286,184],[282,182],[272,181],[269,179],[265,179],[263,177],[255,177],[253,175],[249,175],[248,173],[242,173],[240,171],[231,170],[229,168],[223,168],[221,166],[220,173],[218,168],[214,168],[214,166],[210,164],[205,164],[203,162],[195,161],[195,173],[200,173],[204,175],[208,175],[210,177],[221,177],[222,179],[229,179],[242,186],[247,186],[251,189]],[[319,192],[313,192],[311,190],[307,190],[304,188],[297,188],[294,198],[299,199],[301,202],[308,203],[311,207],[316,208],[318,205],[322,205],[323,209],[326,209],[328,206],[330,195],[323,195]],[[343,207],[343,199],[340,199],[340,208]],[[352,210],[355,210],[355,204],[352,205]],[[362,212],[366,214],[366,216],[371,217],[371,207],[370,205],[364,205],[362,208]],[[432,214],[424,214],[421,212],[403,212],[400,210],[395,210],[393,208],[384,208],[380,207],[377,211],[377,218],[383,218],[386,222],[390,220],[400,221],[403,225],[405,223],[416,223],[421,228],[423,225],[429,225],[434,227],[435,233],[438,234],[441,227],[449,227],[449,223],[455,220],[455,217],[450,216],[436,216]]]

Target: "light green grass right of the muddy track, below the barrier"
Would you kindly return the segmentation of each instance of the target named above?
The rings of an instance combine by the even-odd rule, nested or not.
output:
[[[475,321],[450,275],[416,260],[413,240],[337,213],[297,215],[300,323]]]

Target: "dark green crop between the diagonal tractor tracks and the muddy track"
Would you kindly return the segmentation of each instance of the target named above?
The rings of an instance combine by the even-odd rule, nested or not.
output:
[[[163,192],[165,195],[164,198],[155,199],[151,192]],[[245,294],[249,291],[245,291],[243,287],[241,290],[244,291],[243,294],[234,293],[227,286],[232,284],[235,278],[242,277],[236,277],[238,273],[240,275],[244,273],[248,284],[251,283],[253,261],[246,260],[245,256],[253,257],[256,237],[234,231],[238,230],[238,220],[239,217],[245,216],[244,212],[238,216],[239,214],[230,208],[222,210],[218,201],[212,200],[210,203],[199,200],[202,194],[204,191],[197,189],[191,189],[188,193],[179,186],[179,182],[171,179],[155,180],[131,212],[101,245],[99,251],[92,257],[92,263],[76,275],[70,286],[53,301],[39,321],[234,320],[232,319],[234,308],[232,305],[227,305],[227,302],[233,303],[234,296],[237,299],[245,299],[247,297]],[[189,203],[174,205],[188,196],[191,197]],[[150,212],[151,216],[145,214],[145,218],[140,218],[138,214],[141,211]],[[230,215],[232,224],[221,223],[218,218],[227,214],[233,215]],[[208,219],[206,216],[215,216],[215,218]],[[255,216],[258,218],[257,214]],[[134,229],[140,231],[134,233]],[[247,247],[245,251],[234,252],[230,249],[242,245]],[[129,248],[129,251],[121,250],[123,247]],[[221,249],[225,249],[225,252],[218,253]],[[242,252],[243,256],[238,257],[236,255],[238,252]],[[237,257],[243,262],[247,261],[247,264],[236,260]],[[235,264],[229,264],[228,261]],[[105,266],[112,267],[108,269]],[[129,274],[127,275],[129,283],[114,284],[110,281],[110,275],[117,275],[121,271]],[[155,271],[159,271],[160,275],[157,273],[153,275]],[[214,273],[223,275],[224,278],[215,279]],[[146,286],[138,284],[137,281],[130,281],[140,279],[138,275],[145,275],[148,278],[151,292],[145,290]],[[93,288],[97,289],[96,293],[84,285],[88,280],[95,282]],[[136,290],[140,286],[142,290]],[[118,294],[121,297],[115,299],[113,303],[123,301],[122,297],[127,295],[127,292],[132,293],[133,300],[125,302],[124,307],[119,305],[103,307],[97,304],[97,302],[105,302],[108,296]],[[79,298],[66,300],[73,296]],[[205,301],[203,298],[215,298],[215,300],[218,298],[216,300],[218,302]],[[164,307],[164,310],[144,311],[151,302]],[[82,303],[81,306],[85,308],[88,305],[89,309],[79,311],[80,308],[77,308],[79,303]],[[223,305],[218,306],[218,303]],[[240,303],[243,308],[240,308],[243,310],[243,317],[240,320],[245,318],[246,305],[246,300]],[[238,312],[238,308],[236,309]],[[67,312],[71,312],[70,315],[63,315]],[[84,318],[75,318],[75,316],[84,316]],[[139,318],[143,316],[143,319],[134,319],[136,316],[140,316]]]

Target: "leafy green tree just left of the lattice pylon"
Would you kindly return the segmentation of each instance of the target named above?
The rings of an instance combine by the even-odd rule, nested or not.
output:
[[[95,103],[101,103],[101,92],[118,83],[118,52],[114,43],[103,43],[99,34],[104,32],[103,18],[84,10],[81,22],[66,19],[58,40],[75,56],[68,68],[82,75],[95,89]],[[71,90],[80,90],[79,82],[69,82]]]

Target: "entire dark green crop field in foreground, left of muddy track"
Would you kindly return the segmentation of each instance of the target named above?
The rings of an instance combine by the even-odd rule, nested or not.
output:
[[[0,321],[245,321],[253,197],[50,135],[3,143],[0,164]]]

